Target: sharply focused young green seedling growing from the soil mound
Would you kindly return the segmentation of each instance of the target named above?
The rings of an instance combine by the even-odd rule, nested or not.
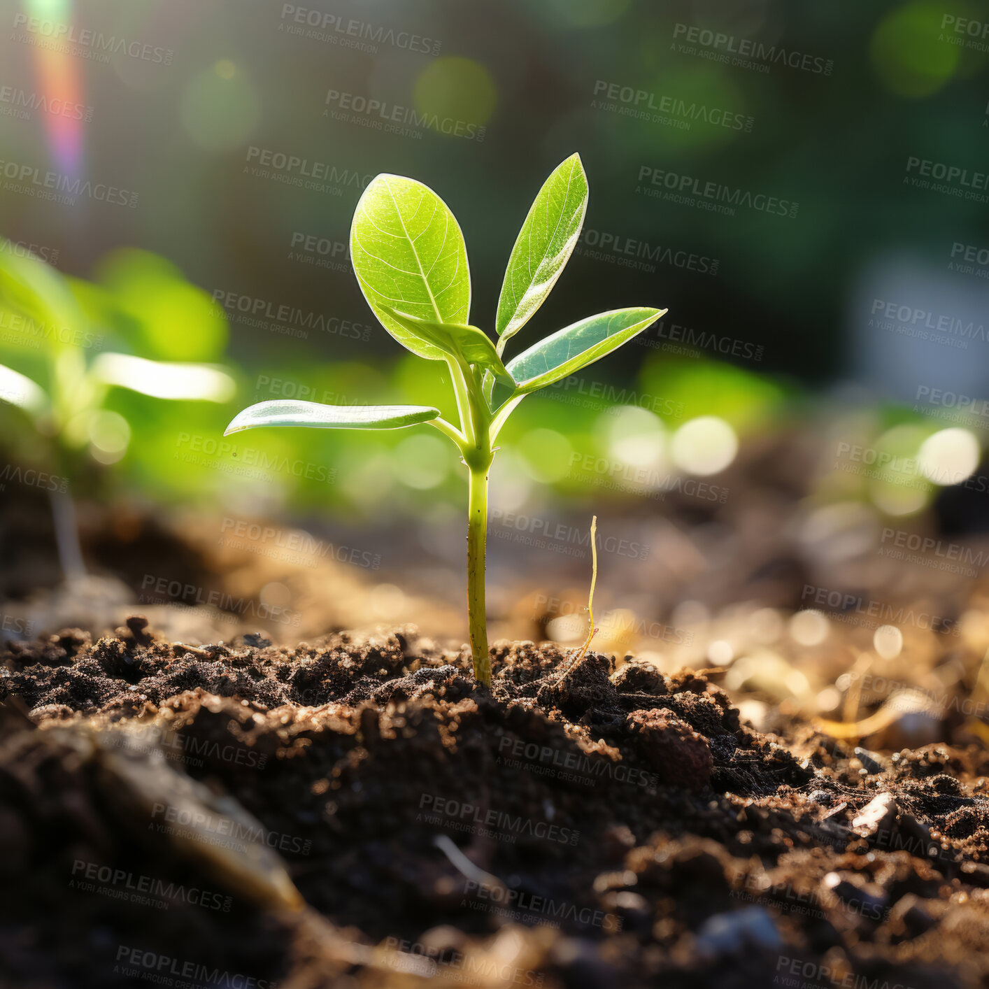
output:
[[[666,310],[634,308],[588,316],[505,364],[505,344],[539,309],[570,258],[584,223],[587,180],[573,154],[546,180],[508,258],[494,330],[470,322],[471,276],[460,226],[429,188],[379,175],[364,191],[350,230],[354,272],[368,305],[408,350],[445,361],[458,422],[425,405],[262,402],[240,412],[226,433],[257,426],[397,429],[426,422],[456,443],[469,472],[468,627],[474,674],[491,685],[485,616],[488,476],[495,441],[512,410],[533,392],[574,374],[641,333]],[[495,398],[496,397],[496,398]]]

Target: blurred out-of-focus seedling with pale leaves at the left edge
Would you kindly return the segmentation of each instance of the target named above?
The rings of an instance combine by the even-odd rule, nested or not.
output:
[[[0,256],[0,312],[27,346],[45,340],[39,368],[47,388],[27,375],[0,364],[0,402],[21,408],[47,447],[47,460],[58,474],[73,473],[69,461],[90,441],[110,389],[126,388],[156,399],[228,402],[233,379],[206,364],[151,361],[131,354],[100,353],[88,359],[83,343],[101,335],[80,295],[98,290],[88,283],[63,278],[34,255]],[[91,348],[95,349],[95,348]],[[120,416],[117,416],[120,418]],[[105,421],[105,419],[104,419]],[[73,580],[86,573],[75,525],[75,509],[67,489],[49,490],[55,543],[62,575]]]

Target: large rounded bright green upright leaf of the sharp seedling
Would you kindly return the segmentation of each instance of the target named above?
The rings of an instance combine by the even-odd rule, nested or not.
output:
[[[391,308],[437,322],[470,320],[467,248],[447,205],[421,182],[379,175],[354,211],[350,254],[364,298],[382,325],[413,354],[442,358],[438,347],[409,333]]]

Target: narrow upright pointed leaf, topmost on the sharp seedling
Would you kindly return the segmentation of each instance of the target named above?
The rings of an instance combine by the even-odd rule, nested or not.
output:
[[[579,154],[557,165],[525,218],[504,271],[494,328],[514,336],[542,306],[560,277],[587,210],[587,177]]]

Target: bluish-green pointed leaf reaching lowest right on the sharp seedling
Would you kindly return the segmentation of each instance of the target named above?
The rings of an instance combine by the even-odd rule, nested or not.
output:
[[[565,326],[508,362],[508,372],[518,383],[516,395],[537,392],[592,364],[666,312],[646,307],[612,310]]]

